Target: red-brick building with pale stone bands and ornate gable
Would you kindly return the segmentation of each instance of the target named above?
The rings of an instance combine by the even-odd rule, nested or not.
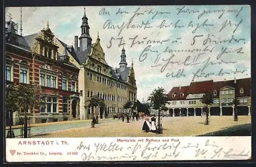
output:
[[[40,85],[45,106],[29,110],[31,123],[72,120],[79,115],[79,69],[60,53],[49,24],[39,33],[17,34],[16,23],[9,20],[5,30],[6,85]],[[20,124],[24,110],[13,113],[13,124]]]

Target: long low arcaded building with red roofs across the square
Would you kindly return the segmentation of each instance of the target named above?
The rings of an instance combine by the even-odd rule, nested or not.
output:
[[[240,101],[238,115],[251,114],[251,78],[223,81],[192,81],[189,86],[173,87],[168,93],[170,116],[201,116],[204,104],[200,99],[206,92],[212,93],[214,103],[208,106],[210,115],[234,115],[233,100]]]

